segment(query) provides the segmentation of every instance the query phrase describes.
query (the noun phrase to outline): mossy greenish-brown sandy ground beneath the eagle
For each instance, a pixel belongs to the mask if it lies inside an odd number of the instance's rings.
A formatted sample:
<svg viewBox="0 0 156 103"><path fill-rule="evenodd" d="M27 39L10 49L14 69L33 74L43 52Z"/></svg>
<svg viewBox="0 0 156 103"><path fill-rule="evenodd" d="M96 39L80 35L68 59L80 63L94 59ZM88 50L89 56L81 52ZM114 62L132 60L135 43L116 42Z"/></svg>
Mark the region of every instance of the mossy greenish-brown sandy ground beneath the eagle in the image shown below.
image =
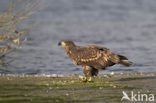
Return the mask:
<svg viewBox="0 0 156 103"><path fill-rule="evenodd" d="M122 91L156 96L156 74L101 74L91 83L80 77L1 75L0 103L129 103L121 101Z"/></svg>

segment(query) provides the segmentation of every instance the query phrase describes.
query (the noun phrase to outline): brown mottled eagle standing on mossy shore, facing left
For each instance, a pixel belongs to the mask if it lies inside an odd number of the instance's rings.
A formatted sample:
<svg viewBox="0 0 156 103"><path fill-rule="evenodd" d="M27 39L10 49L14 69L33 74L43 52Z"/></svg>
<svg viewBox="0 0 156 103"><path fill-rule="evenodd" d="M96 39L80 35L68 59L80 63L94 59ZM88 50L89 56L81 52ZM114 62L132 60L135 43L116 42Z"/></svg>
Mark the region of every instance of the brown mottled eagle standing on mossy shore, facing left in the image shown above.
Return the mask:
<svg viewBox="0 0 156 103"><path fill-rule="evenodd" d="M132 62L125 56L115 54L109 49L96 45L77 46L73 41L63 40L58 43L63 46L65 52L75 65L83 68L84 82L91 82L93 76L97 76L99 70L115 64L130 66Z"/></svg>

